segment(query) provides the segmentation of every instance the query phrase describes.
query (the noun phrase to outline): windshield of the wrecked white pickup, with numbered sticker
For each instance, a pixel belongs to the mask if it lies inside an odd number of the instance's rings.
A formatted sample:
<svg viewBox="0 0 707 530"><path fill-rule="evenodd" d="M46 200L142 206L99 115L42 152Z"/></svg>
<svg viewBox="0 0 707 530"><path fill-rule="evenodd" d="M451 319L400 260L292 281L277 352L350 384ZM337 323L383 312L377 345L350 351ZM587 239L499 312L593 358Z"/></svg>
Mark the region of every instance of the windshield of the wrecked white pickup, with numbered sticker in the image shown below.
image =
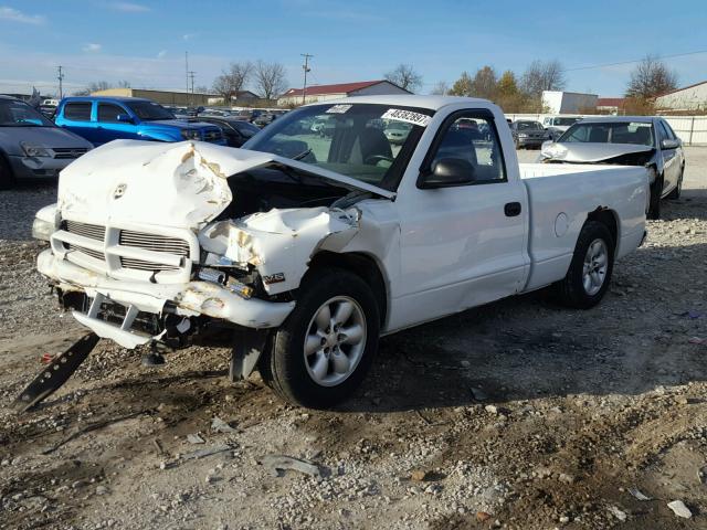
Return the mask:
<svg viewBox="0 0 707 530"><path fill-rule="evenodd" d="M243 148L272 152L394 190L424 127L434 113L389 105L313 105L276 119ZM384 130L408 124L404 141Z"/></svg>

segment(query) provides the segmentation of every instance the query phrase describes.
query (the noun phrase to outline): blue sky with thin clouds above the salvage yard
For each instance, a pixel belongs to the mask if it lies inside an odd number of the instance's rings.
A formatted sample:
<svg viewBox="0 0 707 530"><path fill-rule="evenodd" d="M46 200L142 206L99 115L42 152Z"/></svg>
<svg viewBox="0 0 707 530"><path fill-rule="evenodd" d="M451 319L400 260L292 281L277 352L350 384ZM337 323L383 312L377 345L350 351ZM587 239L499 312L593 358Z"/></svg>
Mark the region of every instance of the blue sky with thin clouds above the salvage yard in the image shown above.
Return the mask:
<svg viewBox="0 0 707 530"><path fill-rule="evenodd" d="M0 92L56 92L59 65L68 92L98 81L184 89L188 52L196 86L261 59L300 87L309 53L308 84L379 80L407 63L429 93L464 71L520 74L538 59L560 61L566 89L611 97L635 67L613 63L646 54L665 57L680 86L707 81L705 36L705 0L0 0Z"/></svg>

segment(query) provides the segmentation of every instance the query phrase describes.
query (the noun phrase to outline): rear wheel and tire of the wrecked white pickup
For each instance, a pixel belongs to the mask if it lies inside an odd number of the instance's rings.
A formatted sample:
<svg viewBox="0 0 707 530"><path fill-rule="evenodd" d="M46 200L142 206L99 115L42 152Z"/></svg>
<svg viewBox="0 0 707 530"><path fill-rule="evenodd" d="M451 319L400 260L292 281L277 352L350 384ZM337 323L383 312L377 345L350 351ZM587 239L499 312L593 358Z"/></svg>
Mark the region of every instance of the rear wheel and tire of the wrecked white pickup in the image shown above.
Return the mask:
<svg viewBox="0 0 707 530"><path fill-rule="evenodd" d="M597 221L584 223L570 268L556 284L561 304L578 309L589 309L603 298L614 267L615 242L605 224Z"/></svg>

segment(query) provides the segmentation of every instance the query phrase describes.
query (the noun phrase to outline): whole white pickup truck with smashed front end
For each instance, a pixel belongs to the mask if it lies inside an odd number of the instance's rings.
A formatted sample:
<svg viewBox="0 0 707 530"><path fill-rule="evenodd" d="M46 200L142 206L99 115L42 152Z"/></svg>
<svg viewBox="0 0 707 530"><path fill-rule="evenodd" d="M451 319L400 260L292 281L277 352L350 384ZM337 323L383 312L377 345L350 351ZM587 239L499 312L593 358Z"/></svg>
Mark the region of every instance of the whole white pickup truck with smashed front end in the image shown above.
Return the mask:
<svg viewBox="0 0 707 530"><path fill-rule="evenodd" d="M401 146L391 121L411 125ZM98 337L230 326L233 378L257 367L329 407L381 335L550 285L594 306L645 236L647 191L644 168L519 166L489 102L370 96L288 113L244 149L107 144L62 172L33 233L39 272Z"/></svg>

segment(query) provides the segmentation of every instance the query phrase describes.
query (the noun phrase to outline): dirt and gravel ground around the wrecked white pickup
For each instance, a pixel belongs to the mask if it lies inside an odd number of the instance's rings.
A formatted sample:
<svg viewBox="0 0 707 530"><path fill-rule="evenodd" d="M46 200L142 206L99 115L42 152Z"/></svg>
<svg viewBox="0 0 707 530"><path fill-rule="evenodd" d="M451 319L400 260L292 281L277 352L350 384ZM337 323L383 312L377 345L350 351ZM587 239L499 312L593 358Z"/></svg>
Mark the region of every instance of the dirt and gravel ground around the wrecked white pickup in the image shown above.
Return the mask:
<svg viewBox="0 0 707 530"><path fill-rule="evenodd" d="M0 528L707 528L707 148L600 306L540 293L387 337L330 412L257 374L229 383L225 347L148 370L102 341L14 413L40 357L82 335L34 273L32 215L54 193L0 193Z"/></svg>

